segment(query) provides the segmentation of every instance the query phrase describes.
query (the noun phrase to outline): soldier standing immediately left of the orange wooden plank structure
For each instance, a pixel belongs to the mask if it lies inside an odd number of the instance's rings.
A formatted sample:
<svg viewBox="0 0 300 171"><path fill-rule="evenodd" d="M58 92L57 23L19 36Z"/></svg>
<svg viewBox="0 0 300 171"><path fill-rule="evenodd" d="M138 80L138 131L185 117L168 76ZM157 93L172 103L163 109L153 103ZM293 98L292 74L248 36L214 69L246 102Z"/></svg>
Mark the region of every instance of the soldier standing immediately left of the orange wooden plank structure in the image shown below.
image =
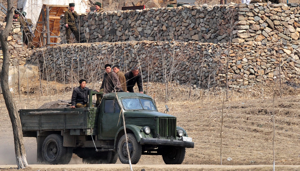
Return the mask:
<svg viewBox="0 0 300 171"><path fill-rule="evenodd" d="M21 27L23 28L23 42L28 44L28 48L34 48L35 46L32 44L32 30L29 30L29 27L32 26L32 20L29 18L27 19L26 14L27 13L25 11L22 12L20 21Z"/></svg>

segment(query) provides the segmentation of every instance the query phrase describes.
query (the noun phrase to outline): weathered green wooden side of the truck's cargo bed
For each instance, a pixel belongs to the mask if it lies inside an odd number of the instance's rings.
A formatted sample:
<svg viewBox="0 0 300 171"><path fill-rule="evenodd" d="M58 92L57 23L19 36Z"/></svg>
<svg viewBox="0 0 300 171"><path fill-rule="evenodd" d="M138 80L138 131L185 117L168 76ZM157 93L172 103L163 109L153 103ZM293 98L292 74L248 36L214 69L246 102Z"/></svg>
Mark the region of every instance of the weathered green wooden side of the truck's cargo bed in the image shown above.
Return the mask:
<svg viewBox="0 0 300 171"><path fill-rule="evenodd" d="M79 132L82 130L97 129L99 112L96 110L97 108L94 107L75 109L20 109L19 115L23 132L38 130L72 130Z"/></svg>

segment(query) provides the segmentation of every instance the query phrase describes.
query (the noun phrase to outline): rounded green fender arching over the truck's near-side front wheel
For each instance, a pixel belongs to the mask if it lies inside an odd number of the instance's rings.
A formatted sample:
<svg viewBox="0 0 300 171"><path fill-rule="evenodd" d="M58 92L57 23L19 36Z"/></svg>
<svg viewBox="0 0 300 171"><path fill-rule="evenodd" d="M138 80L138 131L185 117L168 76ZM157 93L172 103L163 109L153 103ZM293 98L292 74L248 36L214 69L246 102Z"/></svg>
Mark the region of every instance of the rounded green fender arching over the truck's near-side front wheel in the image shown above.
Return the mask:
<svg viewBox="0 0 300 171"><path fill-rule="evenodd" d="M135 138L138 142L141 141L141 138L153 138L151 134L147 135L145 134L144 131L142 131L142 126L137 126L137 125L126 125L126 133L133 133L135 135ZM128 130L130 130L128 132ZM124 127L122 126L121 128L118 129L117 134L115 136L115 148L118 143L118 139L124 135Z"/></svg>

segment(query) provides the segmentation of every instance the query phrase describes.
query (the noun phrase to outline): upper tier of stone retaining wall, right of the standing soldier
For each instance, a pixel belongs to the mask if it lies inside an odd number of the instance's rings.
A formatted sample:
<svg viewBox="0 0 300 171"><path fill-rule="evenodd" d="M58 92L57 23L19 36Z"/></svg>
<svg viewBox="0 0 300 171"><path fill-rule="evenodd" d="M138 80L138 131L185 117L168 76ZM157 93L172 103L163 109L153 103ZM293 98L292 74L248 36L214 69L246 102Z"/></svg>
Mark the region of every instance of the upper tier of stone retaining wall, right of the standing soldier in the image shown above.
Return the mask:
<svg viewBox="0 0 300 171"><path fill-rule="evenodd" d="M231 33L235 43L277 42L281 38L298 40L299 13L299 4L203 5L90 12L80 15L77 24L81 40L89 43L131 40L225 43ZM62 17L60 31L64 37L63 21Z"/></svg>

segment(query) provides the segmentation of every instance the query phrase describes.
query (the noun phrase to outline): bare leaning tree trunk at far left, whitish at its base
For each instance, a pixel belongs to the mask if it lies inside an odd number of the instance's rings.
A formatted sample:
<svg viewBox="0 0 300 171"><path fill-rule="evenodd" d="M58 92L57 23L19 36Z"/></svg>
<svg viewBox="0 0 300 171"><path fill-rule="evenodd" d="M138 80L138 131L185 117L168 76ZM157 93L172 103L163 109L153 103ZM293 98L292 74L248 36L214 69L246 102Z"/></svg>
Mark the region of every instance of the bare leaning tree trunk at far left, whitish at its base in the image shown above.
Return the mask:
<svg viewBox="0 0 300 171"><path fill-rule="evenodd" d="M18 116L18 111L15 106L12 94L9 91L8 87L8 67L9 67L9 53L8 53L8 43L7 37L12 29L12 0L7 0L7 23L4 30L0 31L0 43L2 45L3 52L3 65L1 69L1 88L3 93L3 98L5 101L6 108L8 110L8 115L12 122L12 130L14 134L15 141L15 156L18 169L23 169L28 166L26 160L25 147L23 142L23 133L20 117Z"/></svg>

